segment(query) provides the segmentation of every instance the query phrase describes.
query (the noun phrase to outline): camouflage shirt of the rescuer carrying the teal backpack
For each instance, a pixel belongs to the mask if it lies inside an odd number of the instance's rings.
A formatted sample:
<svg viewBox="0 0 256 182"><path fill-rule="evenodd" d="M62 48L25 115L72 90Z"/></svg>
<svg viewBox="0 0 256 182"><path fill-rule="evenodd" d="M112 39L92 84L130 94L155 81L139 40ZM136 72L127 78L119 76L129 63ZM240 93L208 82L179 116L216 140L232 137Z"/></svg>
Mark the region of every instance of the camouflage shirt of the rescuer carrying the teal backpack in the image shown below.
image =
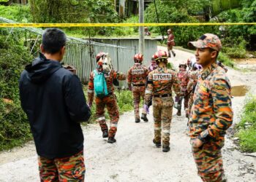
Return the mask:
<svg viewBox="0 0 256 182"><path fill-rule="evenodd" d="M119 79L119 80L125 80L126 79L126 75L122 74L118 71L114 71L111 70L110 73L106 73L105 75L105 79L107 82L107 87L108 87L108 92L114 92L114 87L113 87L113 80L114 79ZM89 83L88 83L88 100L89 103L92 103L94 99L94 71L91 72L90 74L90 79L89 79Z"/></svg>

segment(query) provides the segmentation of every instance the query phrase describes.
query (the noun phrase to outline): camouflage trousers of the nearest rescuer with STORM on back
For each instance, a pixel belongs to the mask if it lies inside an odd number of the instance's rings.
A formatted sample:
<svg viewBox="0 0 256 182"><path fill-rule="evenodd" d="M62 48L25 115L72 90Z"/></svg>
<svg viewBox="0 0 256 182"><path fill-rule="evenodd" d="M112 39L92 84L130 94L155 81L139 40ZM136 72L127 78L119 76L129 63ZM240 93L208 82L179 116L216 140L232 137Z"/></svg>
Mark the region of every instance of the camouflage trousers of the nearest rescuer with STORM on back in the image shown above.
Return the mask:
<svg viewBox="0 0 256 182"><path fill-rule="evenodd" d="M170 122L173 116L173 98L153 98L154 141L161 141L163 146L170 145Z"/></svg>

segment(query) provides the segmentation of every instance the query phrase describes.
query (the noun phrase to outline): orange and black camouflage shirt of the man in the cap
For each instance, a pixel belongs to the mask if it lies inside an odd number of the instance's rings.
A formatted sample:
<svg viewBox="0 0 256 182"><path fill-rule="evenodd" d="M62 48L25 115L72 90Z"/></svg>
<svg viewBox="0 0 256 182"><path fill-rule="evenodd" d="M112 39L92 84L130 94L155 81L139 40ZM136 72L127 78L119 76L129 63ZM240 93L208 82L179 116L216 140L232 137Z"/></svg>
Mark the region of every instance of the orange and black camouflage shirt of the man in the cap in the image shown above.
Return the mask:
<svg viewBox="0 0 256 182"><path fill-rule="evenodd" d="M230 81L217 63L200 71L189 119L191 138L200 135L214 141L224 140L233 122L230 91Z"/></svg>

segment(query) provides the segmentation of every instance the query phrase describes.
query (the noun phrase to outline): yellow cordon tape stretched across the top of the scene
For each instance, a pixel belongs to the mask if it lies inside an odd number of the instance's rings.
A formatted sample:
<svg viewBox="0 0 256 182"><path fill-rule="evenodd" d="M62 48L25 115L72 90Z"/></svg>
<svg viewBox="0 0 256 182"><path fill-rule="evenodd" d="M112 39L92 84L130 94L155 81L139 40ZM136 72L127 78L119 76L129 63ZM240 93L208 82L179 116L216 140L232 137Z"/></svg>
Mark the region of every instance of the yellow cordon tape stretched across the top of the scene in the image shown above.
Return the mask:
<svg viewBox="0 0 256 182"><path fill-rule="evenodd" d="M106 27L106 26L198 26L256 25L256 23L0 23L0 27Z"/></svg>

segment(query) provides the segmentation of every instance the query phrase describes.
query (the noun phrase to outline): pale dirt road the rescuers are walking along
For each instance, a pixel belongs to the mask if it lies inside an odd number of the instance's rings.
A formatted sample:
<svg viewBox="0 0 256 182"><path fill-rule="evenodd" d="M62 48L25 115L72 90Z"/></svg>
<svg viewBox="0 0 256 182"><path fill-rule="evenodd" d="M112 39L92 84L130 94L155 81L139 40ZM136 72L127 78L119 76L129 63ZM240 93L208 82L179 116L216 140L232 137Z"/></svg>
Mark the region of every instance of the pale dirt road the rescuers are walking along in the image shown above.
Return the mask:
<svg viewBox="0 0 256 182"><path fill-rule="evenodd" d="M160 48L160 47L159 47ZM176 50L175 66L187 60L191 54ZM255 92L256 73L242 73L229 69L228 76L233 85L246 84ZM234 123L239 121L245 97L233 98ZM133 112L120 117L117 143L103 140L97 124L83 128L85 135L86 181L190 181L197 182L195 162L192 158L189 138L186 135L187 119L176 116L170 134L170 152L163 153L152 143L153 116L149 122L134 122ZM228 137L223 152L226 175L229 181L255 181L256 158L236 150ZM0 154L0 181L39 181L37 154L34 144Z"/></svg>

